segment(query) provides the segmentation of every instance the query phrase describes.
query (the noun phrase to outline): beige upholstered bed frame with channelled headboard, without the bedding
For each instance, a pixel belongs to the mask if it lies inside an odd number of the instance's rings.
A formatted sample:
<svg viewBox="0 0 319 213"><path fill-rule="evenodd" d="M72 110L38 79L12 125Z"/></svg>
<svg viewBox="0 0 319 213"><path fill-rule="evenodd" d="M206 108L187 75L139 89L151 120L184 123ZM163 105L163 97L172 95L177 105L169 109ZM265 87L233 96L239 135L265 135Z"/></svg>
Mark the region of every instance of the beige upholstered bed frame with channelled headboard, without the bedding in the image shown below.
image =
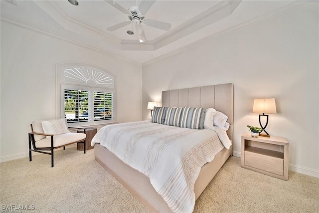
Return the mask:
<svg viewBox="0 0 319 213"><path fill-rule="evenodd" d="M233 85L219 84L162 92L162 106L214 108L228 116L227 135L232 140L233 133ZM142 123L141 125L149 125ZM181 129L181 128L179 128ZM94 141L92 140L92 143ZM95 159L137 199L152 212L172 212L162 196L151 184L150 178L121 161L115 154L99 143L94 144ZM232 155L232 146L222 148L209 163L204 164L193 185L194 199L200 196L219 169ZM153 183L154 184L154 183ZM175 212L175 211L174 211ZM180 212L180 209L179 211Z"/></svg>

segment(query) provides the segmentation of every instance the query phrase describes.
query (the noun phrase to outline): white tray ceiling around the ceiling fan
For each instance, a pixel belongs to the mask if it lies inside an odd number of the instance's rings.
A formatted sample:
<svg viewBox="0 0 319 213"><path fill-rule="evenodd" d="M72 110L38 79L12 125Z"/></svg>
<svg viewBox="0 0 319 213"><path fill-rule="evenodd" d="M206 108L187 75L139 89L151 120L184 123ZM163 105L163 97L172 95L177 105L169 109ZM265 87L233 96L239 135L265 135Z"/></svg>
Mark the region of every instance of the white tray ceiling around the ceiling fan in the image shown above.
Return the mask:
<svg viewBox="0 0 319 213"><path fill-rule="evenodd" d="M5 0L1 19L36 27L144 63L207 36L254 20L272 11L281 11L293 1L270 0L156 0L145 15L171 24L169 31L143 24L147 41L137 33L129 35L132 24L114 31L107 27L129 20L104 0ZM141 0L117 0L125 8Z"/></svg>

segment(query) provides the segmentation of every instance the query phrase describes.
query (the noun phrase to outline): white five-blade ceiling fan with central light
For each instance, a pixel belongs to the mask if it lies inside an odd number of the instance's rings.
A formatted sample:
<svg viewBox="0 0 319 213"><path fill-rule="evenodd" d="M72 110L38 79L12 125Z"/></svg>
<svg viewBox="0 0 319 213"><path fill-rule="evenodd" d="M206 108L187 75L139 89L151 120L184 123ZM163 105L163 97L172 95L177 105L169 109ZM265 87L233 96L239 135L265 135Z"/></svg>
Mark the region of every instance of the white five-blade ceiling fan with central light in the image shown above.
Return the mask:
<svg viewBox="0 0 319 213"><path fill-rule="evenodd" d="M115 24L106 28L109 31L117 30L123 26L129 25L133 23L135 25L135 29L138 33L140 42L146 41L146 36L144 33L144 29L142 23L146 24L147 26L152 26L158 29L163 29L168 31L171 27L170 23L153 20L150 18L146 18L144 14L151 8L156 0L142 0L139 6L131 6L129 9L124 8L121 4L116 2L115 0L105 0L121 12L128 15L130 20L122 21L121 23Z"/></svg>

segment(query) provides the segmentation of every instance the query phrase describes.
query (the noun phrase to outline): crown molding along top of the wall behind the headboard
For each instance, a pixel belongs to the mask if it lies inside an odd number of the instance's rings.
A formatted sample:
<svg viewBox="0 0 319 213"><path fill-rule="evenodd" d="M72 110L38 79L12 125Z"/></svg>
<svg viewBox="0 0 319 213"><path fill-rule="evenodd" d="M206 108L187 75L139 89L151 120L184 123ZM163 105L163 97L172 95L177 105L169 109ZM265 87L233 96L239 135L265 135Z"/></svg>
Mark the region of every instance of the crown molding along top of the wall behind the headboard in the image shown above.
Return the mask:
<svg viewBox="0 0 319 213"><path fill-rule="evenodd" d="M237 25L232 26L230 28L227 28L225 30L219 31L217 33L214 33L212 35L208 35L207 37L204 37L204 38L202 38L200 40L194 41L194 42L189 43L189 44L187 44L185 46L182 46L180 48L177 48L177 49L174 49L174 50L172 50L170 52L162 54L162 55L160 55L158 57L155 57L155 58L153 58L151 60L145 61L142 64L143 64L143 66L152 64L152 63L157 62L159 60L162 60L164 58L176 55L179 52L187 51L188 49L191 49L194 46L197 46L197 45L199 45L201 43L204 43L204 42L210 41L212 39L216 39L216 38L225 36L228 33L234 32L236 30L240 30L240 29L245 28L245 27L249 27L249 26L254 25L256 23L263 22L263 21L268 20L270 18L273 18L275 16L281 15L281 14L286 13L289 10L291 10L291 9L297 7L297 6L301 6L301 5L309 3L309 2L314 2L314 1L313 0L312 1L305 1L305 0L293 1L291 3L288 3L288 4L284 5L284 6L281 6L281 7L277 8L277 9L275 9L275 10L272 10L272 11L266 12L264 14L258 15L257 17L251 18L250 20L247 20L247 21L245 21L243 23L237 24Z"/></svg>

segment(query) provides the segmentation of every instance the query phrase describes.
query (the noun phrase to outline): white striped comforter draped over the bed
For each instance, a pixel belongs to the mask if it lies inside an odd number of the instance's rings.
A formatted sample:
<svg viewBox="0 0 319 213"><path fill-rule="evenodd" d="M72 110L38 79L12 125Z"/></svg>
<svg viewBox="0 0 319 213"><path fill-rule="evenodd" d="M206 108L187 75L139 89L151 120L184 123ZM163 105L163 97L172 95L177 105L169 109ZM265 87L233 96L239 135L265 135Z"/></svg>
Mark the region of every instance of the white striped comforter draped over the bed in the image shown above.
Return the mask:
<svg viewBox="0 0 319 213"><path fill-rule="evenodd" d="M210 129L193 130L142 121L105 126L91 145L100 143L149 177L173 212L192 212L194 183L200 169L224 148L218 135ZM222 141L229 149L227 139Z"/></svg>

